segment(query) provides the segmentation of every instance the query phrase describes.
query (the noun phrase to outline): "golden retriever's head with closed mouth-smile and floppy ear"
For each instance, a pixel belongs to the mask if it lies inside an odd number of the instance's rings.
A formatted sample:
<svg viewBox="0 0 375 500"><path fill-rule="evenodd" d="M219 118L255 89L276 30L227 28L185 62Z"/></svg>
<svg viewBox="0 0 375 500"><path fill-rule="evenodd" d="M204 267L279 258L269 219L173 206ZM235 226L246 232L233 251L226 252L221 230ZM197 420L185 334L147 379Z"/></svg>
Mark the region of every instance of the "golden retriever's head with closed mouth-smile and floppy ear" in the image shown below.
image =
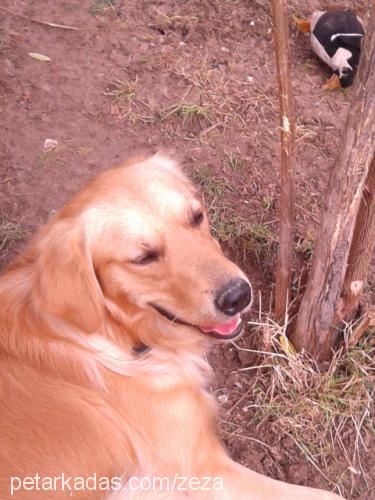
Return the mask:
<svg viewBox="0 0 375 500"><path fill-rule="evenodd" d="M86 332L100 328L110 301L228 339L251 302L201 195L160 156L97 177L47 226L37 252L41 306Z"/></svg>

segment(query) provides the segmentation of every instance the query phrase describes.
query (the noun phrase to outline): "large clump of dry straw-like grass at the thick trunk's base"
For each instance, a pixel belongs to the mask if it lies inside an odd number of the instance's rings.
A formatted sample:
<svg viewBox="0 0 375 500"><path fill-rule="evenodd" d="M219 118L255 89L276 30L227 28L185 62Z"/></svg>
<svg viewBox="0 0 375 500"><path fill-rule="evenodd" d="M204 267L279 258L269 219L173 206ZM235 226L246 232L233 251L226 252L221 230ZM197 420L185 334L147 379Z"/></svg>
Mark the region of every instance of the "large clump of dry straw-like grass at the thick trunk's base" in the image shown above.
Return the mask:
<svg viewBox="0 0 375 500"><path fill-rule="evenodd" d="M353 348L346 342L322 371L295 352L272 320L250 325L262 339L262 350L250 350L261 358L262 369L249 368L256 375L240 405L248 416L243 437L255 434L269 442L272 435L271 444L287 438L294 454L302 453L332 489L349 498L362 494L367 478L361 456L375 437L375 339L368 335Z"/></svg>

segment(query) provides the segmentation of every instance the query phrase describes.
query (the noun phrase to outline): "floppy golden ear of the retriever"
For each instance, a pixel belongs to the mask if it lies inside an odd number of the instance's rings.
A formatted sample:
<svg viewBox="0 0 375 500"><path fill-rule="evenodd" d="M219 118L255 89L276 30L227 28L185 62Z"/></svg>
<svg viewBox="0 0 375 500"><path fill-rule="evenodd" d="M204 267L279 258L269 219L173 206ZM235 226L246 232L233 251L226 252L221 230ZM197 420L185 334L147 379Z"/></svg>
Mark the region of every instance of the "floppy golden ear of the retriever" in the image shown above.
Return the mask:
<svg viewBox="0 0 375 500"><path fill-rule="evenodd" d="M72 220L56 221L37 242L34 297L38 307L87 333L103 318L103 296L84 231Z"/></svg>

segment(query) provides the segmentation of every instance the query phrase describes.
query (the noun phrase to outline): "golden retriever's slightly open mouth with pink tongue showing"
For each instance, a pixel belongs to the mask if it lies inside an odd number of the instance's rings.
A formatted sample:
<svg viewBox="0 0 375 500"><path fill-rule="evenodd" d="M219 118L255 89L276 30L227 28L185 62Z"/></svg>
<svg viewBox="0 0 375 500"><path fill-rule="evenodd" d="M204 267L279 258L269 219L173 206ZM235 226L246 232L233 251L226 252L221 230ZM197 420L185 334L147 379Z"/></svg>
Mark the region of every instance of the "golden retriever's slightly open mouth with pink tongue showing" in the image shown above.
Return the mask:
<svg viewBox="0 0 375 500"><path fill-rule="evenodd" d="M150 304L159 314L172 323L193 327L201 333L220 340L230 340L242 333L243 321L240 314L236 314L230 321L224 323L213 323L211 325L194 325L178 318L156 304Z"/></svg>

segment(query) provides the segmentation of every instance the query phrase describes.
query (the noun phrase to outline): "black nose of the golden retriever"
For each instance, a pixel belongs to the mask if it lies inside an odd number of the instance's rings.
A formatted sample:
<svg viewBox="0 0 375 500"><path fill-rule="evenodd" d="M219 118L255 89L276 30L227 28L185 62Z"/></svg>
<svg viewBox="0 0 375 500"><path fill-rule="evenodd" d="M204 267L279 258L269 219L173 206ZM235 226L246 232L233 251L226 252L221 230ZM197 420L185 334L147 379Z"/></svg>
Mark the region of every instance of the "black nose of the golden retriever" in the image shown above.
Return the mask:
<svg viewBox="0 0 375 500"><path fill-rule="evenodd" d="M238 278L230 281L216 294L215 305L219 311L227 316L234 316L242 311L251 300L251 288L249 284Z"/></svg>

